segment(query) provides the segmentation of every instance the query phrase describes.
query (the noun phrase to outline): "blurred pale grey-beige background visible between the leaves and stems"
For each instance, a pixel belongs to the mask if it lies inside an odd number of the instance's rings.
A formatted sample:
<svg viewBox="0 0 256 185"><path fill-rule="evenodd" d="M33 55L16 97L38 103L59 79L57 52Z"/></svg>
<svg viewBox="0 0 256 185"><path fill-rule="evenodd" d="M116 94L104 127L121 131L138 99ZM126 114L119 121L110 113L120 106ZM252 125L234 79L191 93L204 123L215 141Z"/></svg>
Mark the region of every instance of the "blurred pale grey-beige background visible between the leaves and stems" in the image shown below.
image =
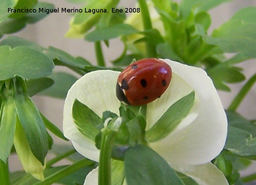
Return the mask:
<svg viewBox="0 0 256 185"><path fill-rule="evenodd" d="M39 0L40 1L40 0ZM43 0L45 2L50 2L55 5L55 7L61 8L80 8L81 4L71 4L65 0ZM179 2L178 0L176 0ZM121 0L119 4L119 8L134 8L135 0ZM228 3L221 4L219 7L216 7L210 10L210 14L212 17L212 25L209 29L210 34L213 29L218 28L221 24L226 22L232 15L239 9L247 6L256 6L256 0L233 0ZM97 8L97 7L95 7ZM129 16L129 14L127 14ZM36 42L37 44L48 47L53 46L55 48L59 48L70 55L82 56L88 61L96 64L96 57L94 52L93 42L86 42L82 38L81 39L69 39L65 38L64 35L69 29L69 21L71 18L71 14L69 13L52 13L47 16L45 19L40 21L35 25L28 25L21 32L15 34L18 37L22 37L29 41ZM8 37L5 36L5 37ZM113 61L116 59L123 50L123 44L118 39L110 40L110 47L103 47L104 57L106 61ZM256 52L256 48L255 48ZM111 65L109 62L107 65ZM250 60L241 63L238 65L244 69L244 74L246 78L250 78L256 71L256 61ZM57 66L55 71L69 71L65 67ZM71 74L71 71L69 71ZM76 75L76 74L74 74ZM76 75L77 76L77 75ZM78 77L78 76L77 76ZM237 83L229 85L232 89L231 93L227 93L224 91L219 91L220 99L223 103L224 108L227 108L228 105L233 100L234 96L238 93L240 88L243 86L243 83ZM38 107L39 111L41 111L50 121L55 123L62 130L62 118L63 118L63 105L64 100L55 99L51 97L44 96L34 96L33 101ZM249 91L246 98L244 98L242 104L238 108L238 112L245 116L247 119L256 119L256 85ZM55 143L58 144L70 144L71 142L64 142L63 140L52 136L54 138ZM52 156L49 155L48 159ZM16 158L16 156L10 156L9 158L10 171L16 171L22 169L20 161ZM65 161L64 161L65 162ZM62 161L63 164L63 161ZM58 165L58 163L57 163ZM251 173L256 172L256 165L253 164L246 171L242 172L242 175L249 175Z"/></svg>

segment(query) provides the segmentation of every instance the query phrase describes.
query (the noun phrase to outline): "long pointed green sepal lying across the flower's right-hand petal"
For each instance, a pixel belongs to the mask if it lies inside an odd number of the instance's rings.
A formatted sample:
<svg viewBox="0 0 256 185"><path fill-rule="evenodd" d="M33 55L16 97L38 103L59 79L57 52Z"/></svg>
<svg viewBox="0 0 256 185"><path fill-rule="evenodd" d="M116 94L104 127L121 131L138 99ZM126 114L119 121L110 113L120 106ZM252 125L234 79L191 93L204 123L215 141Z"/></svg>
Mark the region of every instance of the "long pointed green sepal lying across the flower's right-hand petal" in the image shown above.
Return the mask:
<svg viewBox="0 0 256 185"><path fill-rule="evenodd" d="M166 137L185 118L194 105L195 92L179 99L161 116L161 118L146 131L146 140L154 142Z"/></svg>

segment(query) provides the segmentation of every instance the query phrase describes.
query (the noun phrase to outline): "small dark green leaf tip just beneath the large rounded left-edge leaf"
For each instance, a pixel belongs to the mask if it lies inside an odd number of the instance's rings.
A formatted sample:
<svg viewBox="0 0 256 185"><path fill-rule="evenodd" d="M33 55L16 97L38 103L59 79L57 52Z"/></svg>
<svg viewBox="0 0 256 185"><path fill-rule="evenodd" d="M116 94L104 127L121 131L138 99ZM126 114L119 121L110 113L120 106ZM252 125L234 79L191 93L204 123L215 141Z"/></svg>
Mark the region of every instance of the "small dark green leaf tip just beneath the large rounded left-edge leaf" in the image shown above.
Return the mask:
<svg viewBox="0 0 256 185"><path fill-rule="evenodd" d="M37 93L51 87L54 81L50 78L38 78L38 79L30 79L27 81L27 92L28 95L34 96Z"/></svg>

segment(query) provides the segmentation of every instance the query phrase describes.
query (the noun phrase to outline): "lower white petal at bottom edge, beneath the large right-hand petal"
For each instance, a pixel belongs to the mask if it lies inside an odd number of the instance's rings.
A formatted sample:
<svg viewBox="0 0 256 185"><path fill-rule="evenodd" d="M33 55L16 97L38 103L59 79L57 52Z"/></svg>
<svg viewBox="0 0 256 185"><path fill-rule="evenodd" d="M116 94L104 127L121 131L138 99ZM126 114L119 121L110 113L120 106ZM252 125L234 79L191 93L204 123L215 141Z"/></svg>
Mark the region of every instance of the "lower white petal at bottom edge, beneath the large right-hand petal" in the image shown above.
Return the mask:
<svg viewBox="0 0 256 185"><path fill-rule="evenodd" d="M180 165L173 168L193 178L199 185L228 185L223 173L211 162L201 165Z"/></svg>

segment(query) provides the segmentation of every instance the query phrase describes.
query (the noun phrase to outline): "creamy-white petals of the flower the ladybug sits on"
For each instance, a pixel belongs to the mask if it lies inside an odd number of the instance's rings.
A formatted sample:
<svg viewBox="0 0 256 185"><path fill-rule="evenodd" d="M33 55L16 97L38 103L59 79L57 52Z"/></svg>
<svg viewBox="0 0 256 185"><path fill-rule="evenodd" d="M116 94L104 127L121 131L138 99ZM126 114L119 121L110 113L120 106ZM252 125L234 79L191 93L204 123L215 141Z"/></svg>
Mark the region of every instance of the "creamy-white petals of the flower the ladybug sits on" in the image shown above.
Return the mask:
<svg viewBox="0 0 256 185"><path fill-rule="evenodd" d="M195 104L189 114L165 138L149 146L173 169L193 178L198 184L228 184L223 173L210 161L223 149L227 119L216 89L207 74L199 68L164 60L172 67L173 78L161 98L147 106L146 130L152 127L177 100L195 91ZM75 98L101 117L108 110L119 114L120 102L115 96L119 72L105 70L84 75L69 90L63 114L63 131L76 150L86 158L99 161L95 143L78 131L72 118ZM86 177L85 184L97 182L97 168ZM92 180L92 181L91 181ZM96 183L95 183L96 184Z"/></svg>

